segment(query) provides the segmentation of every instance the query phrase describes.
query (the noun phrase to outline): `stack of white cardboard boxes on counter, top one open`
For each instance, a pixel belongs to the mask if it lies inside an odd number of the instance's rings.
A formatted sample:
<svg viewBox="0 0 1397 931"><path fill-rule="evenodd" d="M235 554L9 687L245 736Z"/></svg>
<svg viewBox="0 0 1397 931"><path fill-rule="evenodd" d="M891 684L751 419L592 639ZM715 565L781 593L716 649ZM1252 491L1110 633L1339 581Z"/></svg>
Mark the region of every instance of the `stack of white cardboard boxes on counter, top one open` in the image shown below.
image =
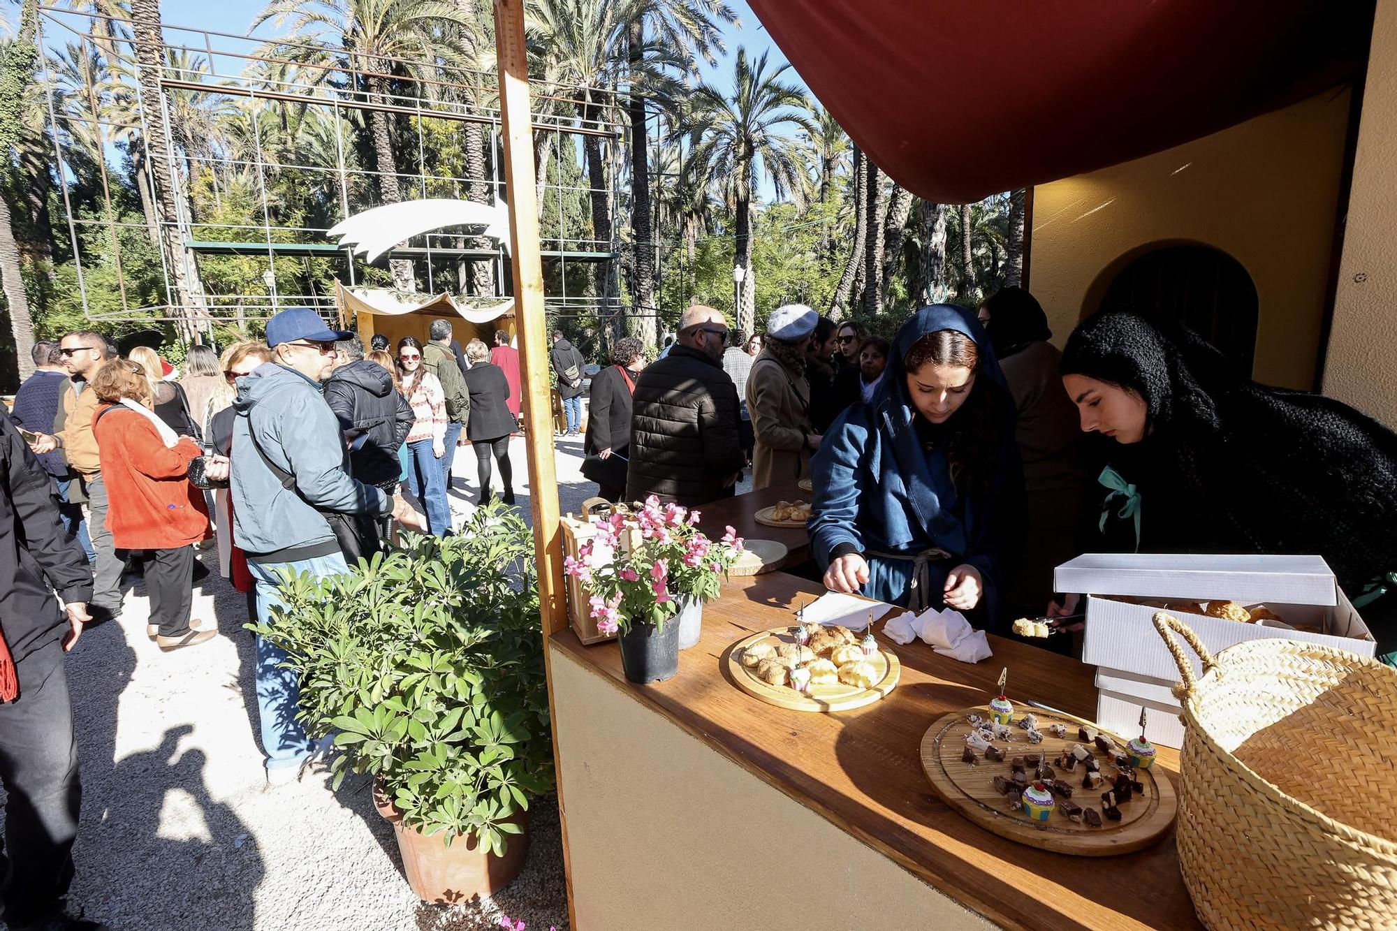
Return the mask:
<svg viewBox="0 0 1397 931"><path fill-rule="evenodd" d="M1263 637L1309 640L1369 657L1376 646L1319 556L1085 554L1058 566L1053 587L1084 593L1081 660L1098 667L1097 723L1134 737L1143 706L1150 720L1147 737L1162 746L1183 745L1183 724L1172 692L1179 670L1154 629L1160 609L1154 604L1161 600L1264 604L1288 623L1322 630L1241 623L1171 608L1169 614L1187 623L1213 653ZM1187 646L1185 653L1201 675L1199 658Z"/></svg>

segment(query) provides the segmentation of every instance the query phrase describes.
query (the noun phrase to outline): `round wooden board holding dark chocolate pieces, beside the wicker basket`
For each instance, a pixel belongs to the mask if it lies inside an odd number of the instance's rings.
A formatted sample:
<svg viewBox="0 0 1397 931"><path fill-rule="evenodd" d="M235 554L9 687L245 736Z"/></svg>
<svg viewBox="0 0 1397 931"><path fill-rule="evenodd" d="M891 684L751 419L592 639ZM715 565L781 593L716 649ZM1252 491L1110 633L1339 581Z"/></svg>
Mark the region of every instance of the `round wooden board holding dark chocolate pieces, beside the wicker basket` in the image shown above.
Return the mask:
<svg viewBox="0 0 1397 931"><path fill-rule="evenodd" d="M1018 727L1018 719L1031 713L1038 719L1042 731L1042 744L1030 744L1027 731ZM1115 854L1141 850L1158 842L1169 832L1173 816L1179 811L1179 800L1175 795L1173 784L1165 777L1155 777L1150 769L1137 769L1136 779L1144 786L1144 798L1132 794L1130 801L1122 802L1120 821L1108 821L1102 816L1101 828L1088 828L1085 821L1069 821L1056 808L1046 822L1028 821L1023 811L1009 811L1007 795L995 791L995 776L1010 776L1010 760L1014 756L1042 752L1052 762L1073 744L1081 744L1077 728L1085 724L1095 731L1106 734L1091 721L1083 721L1067 714L1045 712L1037 707L1014 707L1013 739L1007 744L996 741L995 745L1004 751L1004 762L996 763L985 759L985 753L977 751L979 765L972 766L961 762L965 749L965 737L971 731L967 716L979 714L989 717L988 707L967 707L953 712L936 720L922 738L922 769L930 780L936 794L946 800L951 808L965 818L970 818L981 828L992 830L1002 837L1017 840L1030 847L1052 850L1055 853L1073 854L1077 857L1111 857ZM1067 726L1066 739L1056 738L1048 730L1051 724L1062 723ZM1125 741L1115 734L1106 734L1115 739L1116 746L1125 748ZM1101 788L1083 788L1081 779L1085 770L1083 766L1065 774L1073 788L1071 801L1083 808L1102 809L1101 793L1111 787L1111 780L1116 774L1115 765L1095 746L1087 746L1101 763L1101 774L1105 777ZM1030 770L1030 777L1032 772ZM1062 802L1060 798L1053 798Z"/></svg>

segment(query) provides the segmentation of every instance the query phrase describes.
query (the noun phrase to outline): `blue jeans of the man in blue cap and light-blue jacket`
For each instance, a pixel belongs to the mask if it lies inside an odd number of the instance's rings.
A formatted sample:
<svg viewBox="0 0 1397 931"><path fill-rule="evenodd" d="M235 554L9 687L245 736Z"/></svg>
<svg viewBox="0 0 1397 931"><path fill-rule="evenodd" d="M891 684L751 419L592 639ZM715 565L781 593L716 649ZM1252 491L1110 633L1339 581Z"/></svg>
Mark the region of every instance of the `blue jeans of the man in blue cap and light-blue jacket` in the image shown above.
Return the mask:
<svg viewBox="0 0 1397 931"><path fill-rule="evenodd" d="M278 570L309 572L317 579L345 573L349 568L339 554L300 559L298 562L253 562L247 561L247 572L257 580L257 621L267 623L274 607L285 607L277 586ZM257 717L261 721L263 751L267 753L268 770L300 766L314 749L314 741L306 737L306 728L296 720L300 710L300 685L296 672L282 668L286 651L257 637Z"/></svg>

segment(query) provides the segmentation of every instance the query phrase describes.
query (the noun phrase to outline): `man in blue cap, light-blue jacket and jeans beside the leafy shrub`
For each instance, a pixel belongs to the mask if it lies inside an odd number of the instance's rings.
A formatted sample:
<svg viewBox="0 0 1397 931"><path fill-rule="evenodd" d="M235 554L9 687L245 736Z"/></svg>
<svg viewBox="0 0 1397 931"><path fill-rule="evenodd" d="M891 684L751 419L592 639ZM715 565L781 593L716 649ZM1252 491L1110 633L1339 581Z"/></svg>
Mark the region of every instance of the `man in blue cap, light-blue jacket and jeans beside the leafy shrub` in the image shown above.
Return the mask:
<svg viewBox="0 0 1397 931"><path fill-rule="evenodd" d="M267 623L278 572L316 577L346 572L327 513L391 513L409 530L425 530L401 498L355 481L346 468L339 421L321 394L335 361L331 330L310 308L291 308L267 322L272 361L237 380L233 401L233 540L247 554L257 582L257 621ZM296 721L296 675L279 668L286 654L257 637L257 713L267 753L267 781L292 781L316 749Z"/></svg>

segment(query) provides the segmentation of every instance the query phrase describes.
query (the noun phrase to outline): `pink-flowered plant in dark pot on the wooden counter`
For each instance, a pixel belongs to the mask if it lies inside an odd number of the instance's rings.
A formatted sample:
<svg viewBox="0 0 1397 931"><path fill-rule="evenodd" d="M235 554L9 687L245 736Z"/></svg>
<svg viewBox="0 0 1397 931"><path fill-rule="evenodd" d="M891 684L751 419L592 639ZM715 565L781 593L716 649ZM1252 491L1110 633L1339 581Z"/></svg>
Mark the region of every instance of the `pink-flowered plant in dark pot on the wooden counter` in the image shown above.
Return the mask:
<svg viewBox="0 0 1397 931"><path fill-rule="evenodd" d="M588 593L597 629L619 632L626 678L662 682L679 670L679 650L698 642L703 602L718 596L742 538L728 527L714 542L698 530L698 512L654 495L591 523L595 535L563 570Z"/></svg>

